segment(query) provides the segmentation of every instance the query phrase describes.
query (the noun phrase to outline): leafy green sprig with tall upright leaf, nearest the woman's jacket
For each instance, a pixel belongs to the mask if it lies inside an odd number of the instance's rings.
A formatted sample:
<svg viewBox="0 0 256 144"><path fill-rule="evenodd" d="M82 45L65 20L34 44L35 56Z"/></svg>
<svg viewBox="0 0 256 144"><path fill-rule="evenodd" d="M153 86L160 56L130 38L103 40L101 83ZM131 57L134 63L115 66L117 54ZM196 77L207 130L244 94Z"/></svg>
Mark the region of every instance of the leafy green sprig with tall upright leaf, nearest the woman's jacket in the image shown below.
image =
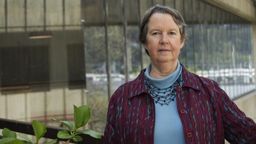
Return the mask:
<svg viewBox="0 0 256 144"><path fill-rule="evenodd" d="M83 130L78 131L78 129L82 126L85 126L90 119L90 108L88 106L76 107L74 105L74 123L68 121L61 121L55 118L52 118L52 121L60 122L65 125L69 131L61 130L58 132L57 137L60 139L68 139L66 143L69 143L70 140L75 142L82 141L82 137L79 134L89 134L91 137L100 139L102 134L92 131L92 130Z"/></svg>

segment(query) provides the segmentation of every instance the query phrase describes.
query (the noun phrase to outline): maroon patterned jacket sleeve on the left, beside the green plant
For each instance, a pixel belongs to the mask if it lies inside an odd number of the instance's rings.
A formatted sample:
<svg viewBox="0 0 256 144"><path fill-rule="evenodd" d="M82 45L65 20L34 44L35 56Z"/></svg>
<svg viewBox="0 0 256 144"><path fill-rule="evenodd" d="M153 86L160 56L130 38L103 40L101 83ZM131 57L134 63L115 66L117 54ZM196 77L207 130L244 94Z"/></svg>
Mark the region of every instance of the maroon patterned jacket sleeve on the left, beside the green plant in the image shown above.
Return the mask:
<svg viewBox="0 0 256 144"><path fill-rule="evenodd" d="M112 95L108 104L107 124L104 131L103 143L118 143L118 133L116 131L116 99L119 96L119 89Z"/></svg>

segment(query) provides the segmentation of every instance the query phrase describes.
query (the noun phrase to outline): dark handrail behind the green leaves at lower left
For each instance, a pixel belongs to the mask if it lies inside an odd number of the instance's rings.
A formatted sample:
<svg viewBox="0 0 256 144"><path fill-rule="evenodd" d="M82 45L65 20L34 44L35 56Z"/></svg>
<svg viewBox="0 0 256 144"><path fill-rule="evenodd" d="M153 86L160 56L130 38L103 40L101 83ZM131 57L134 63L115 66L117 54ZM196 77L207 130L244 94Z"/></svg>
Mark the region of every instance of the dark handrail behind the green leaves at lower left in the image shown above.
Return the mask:
<svg viewBox="0 0 256 144"><path fill-rule="evenodd" d="M30 135L34 135L34 131L33 131L33 127L31 123L28 122L20 122L20 121L15 121L15 120L11 120L11 119L4 119L4 118L0 118L0 129L10 129L12 131L15 132L19 132L19 133L25 133L25 134L30 134ZM46 126L46 133L44 134L44 138L48 138L48 139L57 139L57 133L60 130L67 130L65 128L62 127L55 127L55 126ZM102 143L103 139L96 139L91 137L90 135L80 135L83 138L83 141L79 141L79 142L75 142L75 143ZM58 139L59 140L59 139ZM65 139L63 139L63 141L66 141Z"/></svg>

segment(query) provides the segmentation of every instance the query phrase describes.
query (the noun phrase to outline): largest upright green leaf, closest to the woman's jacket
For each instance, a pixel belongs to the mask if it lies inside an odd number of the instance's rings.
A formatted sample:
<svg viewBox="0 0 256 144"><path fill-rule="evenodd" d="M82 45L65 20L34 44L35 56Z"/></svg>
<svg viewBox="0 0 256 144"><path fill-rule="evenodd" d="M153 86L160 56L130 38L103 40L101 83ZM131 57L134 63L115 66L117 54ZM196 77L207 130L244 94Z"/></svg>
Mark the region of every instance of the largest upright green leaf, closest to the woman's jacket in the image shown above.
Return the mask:
<svg viewBox="0 0 256 144"><path fill-rule="evenodd" d="M88 106L76 107L74 105L75 128L84 126L90 119L90 108Z"/></svg>

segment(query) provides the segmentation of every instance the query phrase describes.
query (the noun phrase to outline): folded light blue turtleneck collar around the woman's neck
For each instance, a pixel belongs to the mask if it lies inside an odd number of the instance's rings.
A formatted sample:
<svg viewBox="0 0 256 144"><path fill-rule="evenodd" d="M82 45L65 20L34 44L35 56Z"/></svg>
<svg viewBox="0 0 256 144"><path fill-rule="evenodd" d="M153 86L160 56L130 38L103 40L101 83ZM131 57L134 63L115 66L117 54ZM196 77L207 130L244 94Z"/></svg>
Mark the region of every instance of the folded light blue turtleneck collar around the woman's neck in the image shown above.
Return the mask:
<svg viewBox="0 0 256 144"><path fill-rule="evenodd" d="M163 88L171 86L177 80L177 78L181 74L182 68L181 68L180 62L178 60L178 65L177 65L176 70L172 74L167 75L163 78L150 77L149 76L150 70L151 70L151 63L148 65L148 67L145 71L145 76L148 78L148 80L150 81L151 84L154 84L156 87L163 89Z"/></svg>

